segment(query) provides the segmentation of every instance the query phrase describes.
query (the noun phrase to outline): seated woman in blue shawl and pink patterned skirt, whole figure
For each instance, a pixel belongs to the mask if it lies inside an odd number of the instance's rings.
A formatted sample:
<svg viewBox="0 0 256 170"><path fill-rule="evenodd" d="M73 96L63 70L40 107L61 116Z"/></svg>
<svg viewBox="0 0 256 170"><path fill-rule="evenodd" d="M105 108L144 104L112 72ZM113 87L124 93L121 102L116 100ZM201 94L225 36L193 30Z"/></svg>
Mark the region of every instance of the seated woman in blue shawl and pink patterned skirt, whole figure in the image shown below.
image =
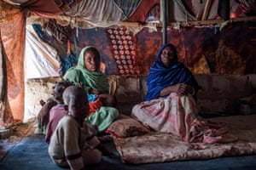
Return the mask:
<svg viewBox="0 0 256 170"><path fill-rule="evenodd" d="M225 142L221 135L227 132L226 128L198 116L198 83L189 69L177 61L177 49L172 44L160 48L147 81L148 94L145 101L132 108L133 118L154 131L175 134L185 142Z"/></svg>

